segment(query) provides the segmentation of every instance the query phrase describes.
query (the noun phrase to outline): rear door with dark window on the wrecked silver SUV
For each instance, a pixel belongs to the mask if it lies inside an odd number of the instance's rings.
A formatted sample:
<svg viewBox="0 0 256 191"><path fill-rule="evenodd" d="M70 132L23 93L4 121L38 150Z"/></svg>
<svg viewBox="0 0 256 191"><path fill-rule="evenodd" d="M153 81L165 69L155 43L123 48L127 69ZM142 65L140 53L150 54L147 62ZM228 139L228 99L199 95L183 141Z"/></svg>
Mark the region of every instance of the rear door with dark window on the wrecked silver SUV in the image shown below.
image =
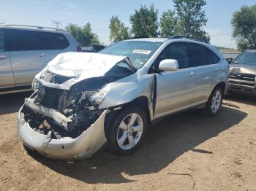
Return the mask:
<svg viewBox="0 0 256 191"><path fill-rule="evenodd" d="M216 63L219 62L219 58L208 47L195 43L188 44L195 69L195 93L192 105L203 104L208 100L217 77Z"/></svg>

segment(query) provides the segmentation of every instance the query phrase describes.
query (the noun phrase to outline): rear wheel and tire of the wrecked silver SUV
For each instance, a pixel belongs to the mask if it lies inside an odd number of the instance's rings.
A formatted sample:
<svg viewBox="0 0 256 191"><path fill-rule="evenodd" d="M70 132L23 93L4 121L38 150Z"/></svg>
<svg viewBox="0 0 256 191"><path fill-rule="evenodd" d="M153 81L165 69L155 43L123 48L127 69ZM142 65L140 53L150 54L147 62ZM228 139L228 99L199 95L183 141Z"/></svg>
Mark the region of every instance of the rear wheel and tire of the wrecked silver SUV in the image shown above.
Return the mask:
<svg viewBox="0 0 256 191"><path fill-rule="evenodd" d="M223 90L220 87L215 87L206 104L206 111L211 116L219 114L219 110L222 107Z"/></svg>

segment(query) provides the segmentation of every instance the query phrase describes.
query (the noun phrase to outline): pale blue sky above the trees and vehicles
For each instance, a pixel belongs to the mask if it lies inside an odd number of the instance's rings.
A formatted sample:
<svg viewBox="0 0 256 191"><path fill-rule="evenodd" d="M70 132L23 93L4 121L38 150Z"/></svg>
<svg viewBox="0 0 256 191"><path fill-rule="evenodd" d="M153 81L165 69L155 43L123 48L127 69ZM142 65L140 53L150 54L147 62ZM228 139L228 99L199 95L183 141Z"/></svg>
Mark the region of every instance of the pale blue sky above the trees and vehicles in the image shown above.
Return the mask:
<svg viewBox="0 0 256 191"><path fill-rule="evenodd" d="M233 12L243 5L252 6L256 1L206 0L206 3L203 9L208 22L204 29L211 36L211 44L236 48L230 24ZM129 16L144 4L148 7L154 4L159 16L163 11L173 9L172 0L0 0L0 23L52 27L52 20L57 20L64 28L69 23L83 26L90 22L99 41L110 44L110 17L117 15L130 27Z"/></svg>

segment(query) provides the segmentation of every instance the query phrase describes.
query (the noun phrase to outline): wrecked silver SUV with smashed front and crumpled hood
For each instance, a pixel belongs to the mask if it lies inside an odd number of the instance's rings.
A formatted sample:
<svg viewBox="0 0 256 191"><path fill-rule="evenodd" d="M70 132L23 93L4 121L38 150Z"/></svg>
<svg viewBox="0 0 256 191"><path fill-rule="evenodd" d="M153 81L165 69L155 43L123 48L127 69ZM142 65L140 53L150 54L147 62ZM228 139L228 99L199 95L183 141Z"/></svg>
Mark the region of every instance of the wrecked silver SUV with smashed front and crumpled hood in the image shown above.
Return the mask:
<svg viewBox="0 0 256 191"><path fill-rule="evenodd" d="M37 74L18 132L25 147L47 157L90 157L105 144L128 155L160 117L196 106L218 114L228 72L215 47L184 36L67 52Z"/></svg>

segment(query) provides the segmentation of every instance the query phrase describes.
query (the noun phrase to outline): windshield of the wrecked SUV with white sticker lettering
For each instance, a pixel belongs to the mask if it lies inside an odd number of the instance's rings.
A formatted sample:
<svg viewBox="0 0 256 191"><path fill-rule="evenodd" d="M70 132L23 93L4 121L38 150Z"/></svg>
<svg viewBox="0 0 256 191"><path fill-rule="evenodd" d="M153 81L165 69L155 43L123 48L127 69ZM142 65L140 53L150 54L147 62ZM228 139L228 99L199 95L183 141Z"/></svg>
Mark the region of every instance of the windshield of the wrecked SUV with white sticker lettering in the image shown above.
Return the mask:
<svg viewBox="0 0 256 191"><path fill-rule="evenodd" d="M100 53L127 56L133 66L135 66L136 69L140 69L161 44L162 42L122 41L110 47L106 47L104 50L100 51Z"/></svg>

